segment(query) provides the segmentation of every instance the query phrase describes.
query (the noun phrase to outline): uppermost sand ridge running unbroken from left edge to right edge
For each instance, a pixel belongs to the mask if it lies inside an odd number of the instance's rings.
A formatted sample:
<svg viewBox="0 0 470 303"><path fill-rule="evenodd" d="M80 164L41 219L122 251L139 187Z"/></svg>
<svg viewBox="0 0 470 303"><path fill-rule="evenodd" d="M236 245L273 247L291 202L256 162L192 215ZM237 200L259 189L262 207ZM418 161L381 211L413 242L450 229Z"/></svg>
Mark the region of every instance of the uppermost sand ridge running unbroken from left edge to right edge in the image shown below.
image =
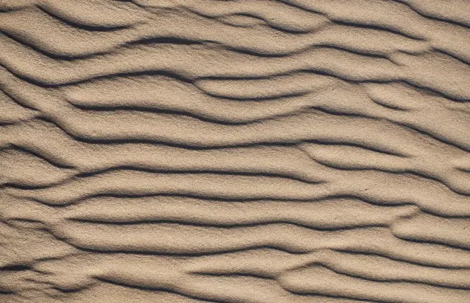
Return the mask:
<svg viewBox="0 0 470 303"><path fill-rule="evenodd" d="M269 77L296 71L319 71L351 81L401 80L433 89L449 98L470 99L468 81L465 77L470 66L438 52L424 53L420 56L395 53L391 62L382 57L370 57L324 47L312 48L289 57L272 58L234 53L231 50L220 50L215 46L156 44L135 45L120 53L73 62L57 62L6 36L0 37L0 40L2 66L19 77L48 86L84 82L108 75L154 71L173 73L187 79ZM16 55L12 56L13 53ZM34 60L35 64L26 68L21 64L26 58ZM212 63L210 66L207 65L207 59ZM254 64L263 68L254 68ZM438 71L441 77L438 79L431 77Z"/></svg>

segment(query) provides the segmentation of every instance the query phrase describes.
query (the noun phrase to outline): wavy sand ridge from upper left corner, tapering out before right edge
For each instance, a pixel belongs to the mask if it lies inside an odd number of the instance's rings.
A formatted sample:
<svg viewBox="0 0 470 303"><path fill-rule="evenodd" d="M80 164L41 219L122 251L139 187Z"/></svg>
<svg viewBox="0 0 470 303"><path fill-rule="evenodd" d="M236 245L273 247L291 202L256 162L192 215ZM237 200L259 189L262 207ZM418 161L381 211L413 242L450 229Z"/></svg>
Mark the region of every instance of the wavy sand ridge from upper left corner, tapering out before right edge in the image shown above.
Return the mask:
<svg viewBox="0 0 470 303"><path fill-rule="evenodd" d="M22 18L35 18L40 20L40 23L30 24L25 28L21 25ZM171 26L171 28L166 28L168 24L176 24L175 19L182 18L187 19L192 26L205 26L206 30L195 35L194 32L187 30L187 27ZM227 18L224 20L227 22ZM68 24L46 14L44 10L37 8L24 9L5 15L3 22L0 19L0 28L4 33L8 33L32 47L39 48L49 56L63 56L70 59L79 59L97 53L115 52L124 46L142 44L146 41L158 42L158 39L167 43L213 43L232 50L267 56L301 53L314 46L336 46L384 57L397 51L422 53L431 50L431 46L426 42L418 42L387 32L377 35L374 30L360 33L355 28L338 24L323 26L312 33L292 34L282 33L269 27L232 26L232 24L224 24L224 22L221 23L215 19L198 17L178 10L172 13L164 10L156 16L149 17L148 21L140 25L136 24L131 28L117 28L112 33L102 31L93 36L89 35L88 31L68 26ZM49 30L55 35L50 36L50 40L40 39L41 30ZM232 37L228 38L227 35L222 35L221 30ZM109 39L102 39L103 35L109 35ZM358 37L359 39L350 39L350 37ZM80 44L79 47L71 48L62 40L64 38L68 41L84 41L85 43ZM374 43L379 41L384 44ZM286 42L289 42L288 46L286 46Z"/></svg>

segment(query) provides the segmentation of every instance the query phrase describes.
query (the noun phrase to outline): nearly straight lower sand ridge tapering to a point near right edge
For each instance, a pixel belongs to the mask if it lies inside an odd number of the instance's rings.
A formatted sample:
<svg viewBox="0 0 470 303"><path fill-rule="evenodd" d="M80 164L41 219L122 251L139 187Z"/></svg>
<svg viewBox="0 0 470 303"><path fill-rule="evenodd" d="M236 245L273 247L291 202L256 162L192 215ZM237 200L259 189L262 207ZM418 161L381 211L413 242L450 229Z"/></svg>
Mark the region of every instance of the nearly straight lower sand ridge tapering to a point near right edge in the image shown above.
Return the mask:
<svg viewBox="0 0 470 303"><path fill-rule="evenodd" d="M412 205L380 207L357 199L325 199L311 202L286 201L206 201L176 196L140 198L98 197L77 205L50 208L34 201L5 196L3 220L37 221L46 224L67 221L88 223L178 222L208 226L249 226L267 223L292 223L319 230L361 226L392 226L412 217ZM129 210L127 205L134 205ZM19 212L18 206L21 205ZM288 212L283 210L290 205ZM348 207L348 208L346 208ZM223 213L216 210L223 209ZM256 214L263 209L263 214ZM41 215L38 216L37 212ZM361 217L361 214L367 214Z"/></svg>

